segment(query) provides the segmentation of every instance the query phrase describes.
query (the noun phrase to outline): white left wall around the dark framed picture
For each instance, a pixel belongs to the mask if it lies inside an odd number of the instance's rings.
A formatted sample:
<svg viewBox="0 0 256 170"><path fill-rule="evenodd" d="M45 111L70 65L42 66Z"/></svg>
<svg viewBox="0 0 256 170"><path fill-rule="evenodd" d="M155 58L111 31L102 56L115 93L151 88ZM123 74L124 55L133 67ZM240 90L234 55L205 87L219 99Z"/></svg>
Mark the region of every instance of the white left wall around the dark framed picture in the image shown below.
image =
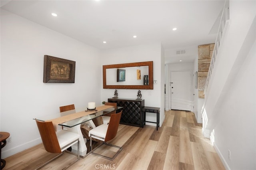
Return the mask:
<svg viewBox="0 0 256 170"><path fill-rule="evenodd" d="M44 55L76 61L75 83L43 83ZM93 47L1 9L0 130L12 136L2 158L41 142L33 118L58 113L62 105L74 103L80 111L90 101L101 104L99 56Z"/></svg>

